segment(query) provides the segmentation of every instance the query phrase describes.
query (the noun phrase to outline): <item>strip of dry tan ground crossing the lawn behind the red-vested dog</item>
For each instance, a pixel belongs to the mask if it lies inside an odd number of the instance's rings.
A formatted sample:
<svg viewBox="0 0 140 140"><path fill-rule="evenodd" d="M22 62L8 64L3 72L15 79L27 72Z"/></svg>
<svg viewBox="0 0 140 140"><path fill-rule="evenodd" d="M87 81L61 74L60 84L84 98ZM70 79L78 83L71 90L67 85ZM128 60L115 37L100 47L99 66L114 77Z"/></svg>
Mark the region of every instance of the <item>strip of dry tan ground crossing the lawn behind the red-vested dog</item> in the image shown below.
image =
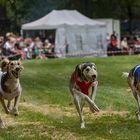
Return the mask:
<svg viewBox="0 0 140 140"><path fill-rule="evenodd" d="M57 116L68 116L73 117L77 115L77 111L74 105L70 107L60 107L57 105L33 105L31 103L21 103L21 106L26 107L34 112L40 112L45 115L55 115ZM124 117L128 115L129 111L113 111L113 110L101 110L98 113L91 113L88 107L84 107L84 113L90 113L92 116L95 117L102 117L102 116L112 116L112 115L119 115L120 117Z"/></svg>

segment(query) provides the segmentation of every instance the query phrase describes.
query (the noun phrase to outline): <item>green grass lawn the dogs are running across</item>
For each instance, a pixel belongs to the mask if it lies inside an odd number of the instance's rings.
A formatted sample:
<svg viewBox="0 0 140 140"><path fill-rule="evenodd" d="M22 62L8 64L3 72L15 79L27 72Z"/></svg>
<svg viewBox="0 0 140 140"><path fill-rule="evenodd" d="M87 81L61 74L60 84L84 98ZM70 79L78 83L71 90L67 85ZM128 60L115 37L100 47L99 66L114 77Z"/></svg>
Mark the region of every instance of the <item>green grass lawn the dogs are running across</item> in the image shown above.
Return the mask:
<svg viewBox="0 0 140 140"><path fill-rule="evenodd" d="M80 129L76 109L69 106L68 85L75 66L85 61L97 65L96 104L101 112L92 114L85 107L86 128ZM7 128L0 130L0 140L139 140L136 102L121 77L139 63L138 56L24 61L20 114L14 117L1 111Z"/></svg>

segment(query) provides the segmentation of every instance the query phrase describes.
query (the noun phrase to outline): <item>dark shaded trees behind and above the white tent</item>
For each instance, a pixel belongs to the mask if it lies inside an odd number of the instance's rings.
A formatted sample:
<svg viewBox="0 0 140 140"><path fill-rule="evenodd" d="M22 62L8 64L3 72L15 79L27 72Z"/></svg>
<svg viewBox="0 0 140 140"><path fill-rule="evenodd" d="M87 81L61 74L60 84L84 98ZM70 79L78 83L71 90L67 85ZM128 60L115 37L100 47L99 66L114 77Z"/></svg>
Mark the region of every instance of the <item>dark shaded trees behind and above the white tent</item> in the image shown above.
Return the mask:
<svg viewBox="0 0 140 140"><path fill-rule="evenodd" d="M76 9L90 18L119 19L122 34L139 34L139 0L0 0L0 34L20 33L22 24L53 9Z"/></svg>

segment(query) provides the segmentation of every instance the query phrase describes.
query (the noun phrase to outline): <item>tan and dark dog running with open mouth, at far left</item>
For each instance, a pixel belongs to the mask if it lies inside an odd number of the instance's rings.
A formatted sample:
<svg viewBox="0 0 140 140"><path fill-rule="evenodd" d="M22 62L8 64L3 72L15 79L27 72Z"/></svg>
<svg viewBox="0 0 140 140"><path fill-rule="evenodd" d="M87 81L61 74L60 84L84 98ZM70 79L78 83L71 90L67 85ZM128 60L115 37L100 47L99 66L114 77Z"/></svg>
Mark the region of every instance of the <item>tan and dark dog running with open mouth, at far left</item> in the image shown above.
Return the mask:
<svg viewBox="0 0 140 140"><path fill-rule="evenodd" d="M22 91L19 76L23 66L19 61L9 61L6 67L6 72L0 71L0 101L7 114L12 113L17 116L19 114L18 105ZM11 108L13 99L14 105ZM5 100L8 101L7 105Z"/></svg>

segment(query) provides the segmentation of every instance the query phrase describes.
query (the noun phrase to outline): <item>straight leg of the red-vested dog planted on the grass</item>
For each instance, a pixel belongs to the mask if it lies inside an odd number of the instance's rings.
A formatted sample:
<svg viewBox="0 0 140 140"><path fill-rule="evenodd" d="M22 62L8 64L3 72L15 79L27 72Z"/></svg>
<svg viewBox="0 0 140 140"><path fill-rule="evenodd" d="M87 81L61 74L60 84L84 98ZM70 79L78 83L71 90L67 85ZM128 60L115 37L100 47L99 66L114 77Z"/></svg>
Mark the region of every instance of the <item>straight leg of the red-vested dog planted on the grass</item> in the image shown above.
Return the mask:
<svg viewBox="0 0 140 140"><path fill-rule="evenodd" d="M83 106L84 106L84 101L82 98L76 94L74 94L74 104L76 106L76 109L78 111L79 117L80 117L80 127L85 128L85 122L83 118Z"/></svg>

